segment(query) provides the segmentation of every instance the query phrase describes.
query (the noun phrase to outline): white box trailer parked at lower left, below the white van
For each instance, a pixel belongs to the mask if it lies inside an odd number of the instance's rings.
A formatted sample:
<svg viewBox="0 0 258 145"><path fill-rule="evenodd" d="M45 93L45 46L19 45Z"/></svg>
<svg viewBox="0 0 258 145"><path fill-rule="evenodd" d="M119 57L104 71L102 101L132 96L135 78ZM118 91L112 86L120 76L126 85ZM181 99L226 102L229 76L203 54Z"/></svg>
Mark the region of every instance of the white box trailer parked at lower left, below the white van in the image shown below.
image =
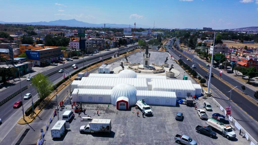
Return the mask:
<svg viewBox="0 0 258 145"><path fill-rule="evenodd" d="M52 138L61 138L65 134L65 123L66 120L58 120L57 123L51 129Z"/></svg>

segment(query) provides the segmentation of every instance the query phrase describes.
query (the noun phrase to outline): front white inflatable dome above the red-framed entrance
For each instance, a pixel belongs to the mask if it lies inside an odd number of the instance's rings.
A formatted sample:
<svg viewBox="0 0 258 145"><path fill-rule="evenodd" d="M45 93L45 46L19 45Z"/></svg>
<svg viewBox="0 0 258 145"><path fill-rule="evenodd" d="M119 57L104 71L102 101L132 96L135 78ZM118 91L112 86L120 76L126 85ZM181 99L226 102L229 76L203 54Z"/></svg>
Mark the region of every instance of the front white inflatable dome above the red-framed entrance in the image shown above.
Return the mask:
<svg viewBox="0 0 258 145"><path fill-rule="evenodd" d="M114 106L117 106L117 102L121 101L121 97L122 97L122 98L125 98L122 101L126 102L127 106L132 106L137 101L136 92L137 92L136 88L130 84L118 84L114 86L114 88L112 88L111 104L113 104Z"/></svg>

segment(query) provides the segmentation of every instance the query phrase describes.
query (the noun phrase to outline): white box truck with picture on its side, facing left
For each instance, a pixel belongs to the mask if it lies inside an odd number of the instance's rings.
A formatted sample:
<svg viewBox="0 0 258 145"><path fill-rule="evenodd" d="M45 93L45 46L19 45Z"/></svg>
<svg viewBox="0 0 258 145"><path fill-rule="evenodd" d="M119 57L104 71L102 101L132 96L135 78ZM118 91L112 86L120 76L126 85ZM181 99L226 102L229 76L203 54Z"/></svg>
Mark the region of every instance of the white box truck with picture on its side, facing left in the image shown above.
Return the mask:
<svg viewBox="0 0 258 145"><path fill-rule="evenodd" d="M92 119L88 125L80 127L80 133L111 132L111 119Z"/></svg>

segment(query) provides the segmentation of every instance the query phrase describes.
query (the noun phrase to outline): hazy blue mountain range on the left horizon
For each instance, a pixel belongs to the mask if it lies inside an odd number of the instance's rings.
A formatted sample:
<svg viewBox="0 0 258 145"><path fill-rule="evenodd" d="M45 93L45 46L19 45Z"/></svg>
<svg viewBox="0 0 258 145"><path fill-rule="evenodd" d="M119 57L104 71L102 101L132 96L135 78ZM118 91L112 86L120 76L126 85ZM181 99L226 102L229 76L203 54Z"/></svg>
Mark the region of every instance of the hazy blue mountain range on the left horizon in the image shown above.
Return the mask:
<svg viewBox="0 0 258 145"><path fill-rule="evenodd" d="M77 21L75 19L71 20L56 20L56 21L40 21L40 22L4 22L0 21L2 24L24 24L24 25L47 25L47 26L69 26L69 27L104 27L104 23L102 24L92 24L83 21ZM131 25L133 28L134 25ZM110 24L106 23L107 28L129 28L127 24ZM137 24L137 28L150 28L150 26Z"/></svg>

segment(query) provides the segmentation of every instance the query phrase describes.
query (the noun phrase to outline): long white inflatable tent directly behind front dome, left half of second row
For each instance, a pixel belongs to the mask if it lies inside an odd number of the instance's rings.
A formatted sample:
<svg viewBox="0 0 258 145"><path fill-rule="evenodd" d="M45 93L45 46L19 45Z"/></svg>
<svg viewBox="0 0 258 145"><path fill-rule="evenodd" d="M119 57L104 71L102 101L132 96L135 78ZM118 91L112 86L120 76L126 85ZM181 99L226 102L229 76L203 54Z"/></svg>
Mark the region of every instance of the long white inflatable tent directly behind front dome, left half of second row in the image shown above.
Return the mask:
<svg viewBox="0 0 258 145"><path fill-rule="evenodd" d="M108 89L111 90L117 84L130 84L137 90L148 90L146 78L97 78L83 77L77 88Z"/></svg>

